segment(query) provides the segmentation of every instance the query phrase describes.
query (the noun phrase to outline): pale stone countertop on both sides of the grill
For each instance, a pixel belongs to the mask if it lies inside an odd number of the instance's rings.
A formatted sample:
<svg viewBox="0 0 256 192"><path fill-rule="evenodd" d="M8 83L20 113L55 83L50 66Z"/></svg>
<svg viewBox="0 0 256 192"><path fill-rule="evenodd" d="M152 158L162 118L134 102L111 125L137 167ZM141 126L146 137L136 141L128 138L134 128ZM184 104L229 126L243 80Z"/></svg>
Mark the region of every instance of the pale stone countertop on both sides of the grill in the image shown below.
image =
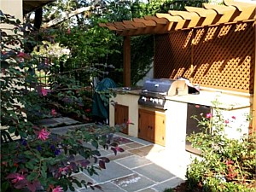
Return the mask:
<svg viewBox="0 0 256 192"><path fill-rule="evenodd" d="M139 96L140 88L114 88L113 91L118 94L130 94ZM183 96L166 96L166 99L173 102L186 102L208 107L216 107L212 102L218 101L218 108L225 110L235 110L239 108L248 108L251 106L249 96L237 96L220 91L201 90L200 94L183 95Z"/></svg>

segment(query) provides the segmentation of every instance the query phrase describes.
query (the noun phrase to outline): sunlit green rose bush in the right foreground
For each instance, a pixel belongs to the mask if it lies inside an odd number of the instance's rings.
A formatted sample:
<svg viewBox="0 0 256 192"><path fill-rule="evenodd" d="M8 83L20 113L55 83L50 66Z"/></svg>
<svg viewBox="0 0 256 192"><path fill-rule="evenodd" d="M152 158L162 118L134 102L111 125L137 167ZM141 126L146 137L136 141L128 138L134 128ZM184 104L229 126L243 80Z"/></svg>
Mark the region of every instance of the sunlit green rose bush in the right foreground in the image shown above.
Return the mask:
<svg viewBox="0 0 256 192"><path fill-rule="evenodd" d="M188 138L194 148L201 150L201 158L193 160L187 170L189 190L201 186L209 192L253 191L256 137L253 134L241 139L227 137L224 129L228 122L218 109L218 102L215 104L214 116L202 117L198 124L202 131Z"/></svg>

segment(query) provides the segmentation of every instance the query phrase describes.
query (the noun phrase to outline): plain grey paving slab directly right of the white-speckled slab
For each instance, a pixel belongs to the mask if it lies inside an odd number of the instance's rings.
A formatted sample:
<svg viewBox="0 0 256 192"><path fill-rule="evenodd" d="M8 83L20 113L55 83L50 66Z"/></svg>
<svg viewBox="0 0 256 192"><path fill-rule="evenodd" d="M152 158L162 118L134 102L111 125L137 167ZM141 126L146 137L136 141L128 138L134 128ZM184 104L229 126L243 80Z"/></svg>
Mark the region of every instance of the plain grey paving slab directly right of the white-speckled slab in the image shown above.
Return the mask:
<svg viewBox="0 0 256 192"><path fill-rule="evenodd" d="M155 182L163 182L172 177L175 177L175 175L173 175L171 172L168 172L162 167L157 166L155 164L141 166L136 169L133 169L133 171L138 172L139 174L142 174Z"/></svg>

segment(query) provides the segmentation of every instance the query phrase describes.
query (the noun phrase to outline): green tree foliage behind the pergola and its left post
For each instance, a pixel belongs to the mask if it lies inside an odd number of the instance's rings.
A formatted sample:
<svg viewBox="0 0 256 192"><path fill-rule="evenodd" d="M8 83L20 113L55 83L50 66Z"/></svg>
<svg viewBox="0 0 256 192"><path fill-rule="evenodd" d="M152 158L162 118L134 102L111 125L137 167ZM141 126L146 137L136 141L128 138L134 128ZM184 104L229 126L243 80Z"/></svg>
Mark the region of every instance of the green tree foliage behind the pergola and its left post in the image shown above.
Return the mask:
<svg viewBox="0 0 256 192"><path fill-rule="evenodd" d="M78 16L64 20L59 24L60 32L55 34L56 41L71 50L72 60L67 59L65 69L71 70L79 67L87 67L101 63L113 68L104 68L105 74L92 73L91 77L113 79L117 84L123 84L123 39L114 35L98 23L132 20L144 15L167 13L170 9L184 10L184 6L201 7L205 1L173 1L151 0L148 3L142 1L96 1L96 9L90 9ZM94 1L55 1L49 4L44 11L44 20L49 18L61 20L61 11L88 7L96 3ZM131 84L143 79L151 68L154 56L154 37L141 36L131 38ZM138 73L137 73L138 72ZM73 73L73 76L76 76ZM84 77L84 73L79 73ZM90 78L91 79L91 78ZM84 79L80 79L84 81Z"/></svg>

